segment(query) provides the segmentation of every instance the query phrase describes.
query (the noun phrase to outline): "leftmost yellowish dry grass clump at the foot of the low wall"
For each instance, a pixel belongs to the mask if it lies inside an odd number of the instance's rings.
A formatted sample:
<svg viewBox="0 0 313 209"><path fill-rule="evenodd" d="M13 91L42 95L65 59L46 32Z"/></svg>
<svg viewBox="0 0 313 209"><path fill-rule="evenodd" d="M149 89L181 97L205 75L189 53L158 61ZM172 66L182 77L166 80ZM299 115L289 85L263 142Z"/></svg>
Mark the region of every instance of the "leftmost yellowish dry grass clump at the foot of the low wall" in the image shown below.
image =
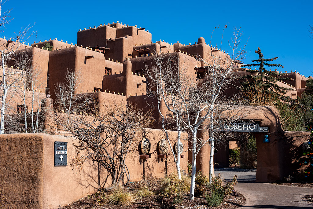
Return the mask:
<svg viewBox="0 0 313 209"><path fill-rule="evenodd" d="M105 198L105 203L112 205L129 206L134 202L134 195L121 185L116 186Z"/></svg>

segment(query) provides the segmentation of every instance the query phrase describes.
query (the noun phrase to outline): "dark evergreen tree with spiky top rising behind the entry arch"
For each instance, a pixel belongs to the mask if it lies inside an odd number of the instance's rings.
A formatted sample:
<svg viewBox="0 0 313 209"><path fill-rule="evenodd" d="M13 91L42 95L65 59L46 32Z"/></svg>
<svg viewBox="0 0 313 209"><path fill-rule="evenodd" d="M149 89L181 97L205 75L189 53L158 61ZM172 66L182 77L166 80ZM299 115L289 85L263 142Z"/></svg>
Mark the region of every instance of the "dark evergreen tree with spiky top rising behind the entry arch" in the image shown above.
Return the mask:
<svg viewBox="0 0 313 209"><path fill-rule="evenodd" d="M261 49L258 47L258 50L255 51L256 54L259 55L259 59L252 60L252 62L255 62L253 64L246 64L246 67L254 67L259 66L259 69L251 70L247 69L246 71L249 73L248 75L245 75L243 79L246 81L242 84L241 89L249 89L251 86L255 88L262 89L265 91L265 93L271 94L273 92L276 92L280 95L284 95L288 88L281 87L277 85L277 81L285 81L290 80L289 78L282 78L279 77L279 75L275 71L269 71L265 69L265 67L284 67L281 64L271 64L267 62L272 62L273 60L278 59L278 57L270 58L270 59L264 59L263 54L261 52ZM286 97L281 96L281 99L286 99Z"/></svg>

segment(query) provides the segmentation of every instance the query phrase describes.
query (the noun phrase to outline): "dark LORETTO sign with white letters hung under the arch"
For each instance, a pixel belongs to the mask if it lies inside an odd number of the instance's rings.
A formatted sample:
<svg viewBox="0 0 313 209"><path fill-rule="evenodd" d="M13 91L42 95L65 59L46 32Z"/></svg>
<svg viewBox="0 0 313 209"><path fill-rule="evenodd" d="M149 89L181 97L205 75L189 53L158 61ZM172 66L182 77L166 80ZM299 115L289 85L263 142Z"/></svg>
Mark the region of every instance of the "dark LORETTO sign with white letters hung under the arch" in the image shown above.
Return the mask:
<svg viewBox="0 0 313 209"><path fill-rule="evenodd" d="M222 131L235 132L269 132L268 127L259 127L258 123L228 123L221 126Z"/></svg>

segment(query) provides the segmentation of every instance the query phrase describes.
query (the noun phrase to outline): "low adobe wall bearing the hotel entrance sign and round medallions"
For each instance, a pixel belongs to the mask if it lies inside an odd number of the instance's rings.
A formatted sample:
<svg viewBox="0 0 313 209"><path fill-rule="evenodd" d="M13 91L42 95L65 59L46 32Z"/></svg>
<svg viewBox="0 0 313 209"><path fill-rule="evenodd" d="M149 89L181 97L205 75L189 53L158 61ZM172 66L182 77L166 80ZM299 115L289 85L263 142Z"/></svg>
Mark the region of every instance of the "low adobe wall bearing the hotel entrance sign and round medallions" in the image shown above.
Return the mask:
<svg viewBox="0 0 313 209"><path fill-rule="evenodd" d="M175 171L173 156L158 159L157 142L164 138L161 130L146 129L144 137L151 141L151 158L140 159L138 150L126 158L130 171L130 181L139 181L143 175L164 177ZM176 132L169 131L174 141ZM182 133L187 139L187 133ZM54 166L54 142L68 142L68 166ZM187 140L184 144L185 158L181 159L181 169L187 172ZM172 143L173 146L173 143ZM105 169L98 172L97 164L87 161L80 170L71 166L75 155L72 138L61 135L5 134L0 135L0 208L57 208L94 193L101 186L109 186L111 179Z"/></svg>

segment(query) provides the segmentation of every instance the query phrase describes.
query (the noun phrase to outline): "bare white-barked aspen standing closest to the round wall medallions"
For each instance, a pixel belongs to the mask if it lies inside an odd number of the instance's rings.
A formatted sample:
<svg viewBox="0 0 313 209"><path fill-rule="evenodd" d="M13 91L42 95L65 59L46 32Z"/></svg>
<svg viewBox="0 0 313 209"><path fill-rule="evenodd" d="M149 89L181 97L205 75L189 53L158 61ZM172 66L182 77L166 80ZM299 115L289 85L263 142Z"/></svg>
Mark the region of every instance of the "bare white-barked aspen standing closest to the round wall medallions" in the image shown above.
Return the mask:
<svg viewBox="0 0 313 209"><path fill-rule="evenodd" d="M162 129L171 148L178 178L181 179L181 134L182 131L188 130L185 123L188 106L184 102L188 97L192 78L187 71L187 62L179 62L179 59L179 53L155 53L151 67L146 66L146 70L151 81L148 96L157 98L156 107L162 117ZM165 105L167 112L162 112L162 105ZM177 131L175 147L172 146L167 133L167 126L171 125L174 125Z"/></svg>

